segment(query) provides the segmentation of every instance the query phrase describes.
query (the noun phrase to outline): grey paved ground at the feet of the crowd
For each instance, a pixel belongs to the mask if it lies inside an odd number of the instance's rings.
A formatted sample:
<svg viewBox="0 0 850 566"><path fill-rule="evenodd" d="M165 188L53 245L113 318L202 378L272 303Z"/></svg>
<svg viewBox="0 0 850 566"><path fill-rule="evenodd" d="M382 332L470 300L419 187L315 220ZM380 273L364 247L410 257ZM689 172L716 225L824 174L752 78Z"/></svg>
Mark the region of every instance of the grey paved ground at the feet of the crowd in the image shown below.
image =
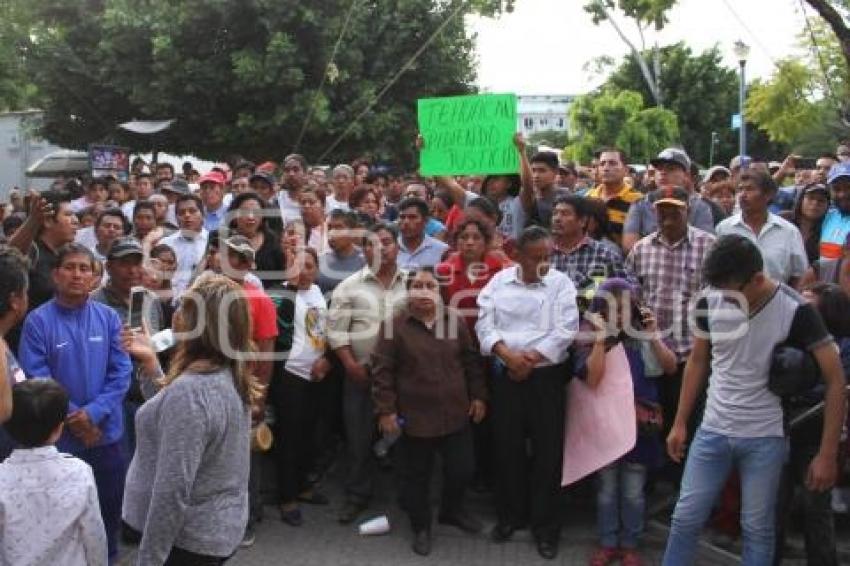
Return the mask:
<svg viewBox="0 0 850 566"><path fill-rule="evenodd" d="M387 514L391 532L379 537L362 537L357 532L357 524L342 526L337 523L336 512L342 501L339 474L340 466L337 465L332 469L322 487L322 491L330 496L331 505L304 506L305 521L301 528L293 528L282 523L275 508L267 506L265 518L257 528L257 542L251 548L241 549L228 565L585 565L596 543L592 506L587 501L573 501L566 504L561 552L557 560L550 562L540 558L528 531L518 533L511 542L494 544L486 536L489 528L495 523L495 513L489 502L489 496L471 494L468 507L484 521L487 527L485 532L478 536L469 536L452 527L435 525L431 556L421 558L413 554L410 549L411 531L406 517L399 511L394 501L392 473L381 473L382 489L378 491L384 495L378 498L372 508L357 522ZM435 493L436 488L432 490L432 495ZM666 534L663 530L650 525L644 545L647 564L660 564L665 539ZM133 553L128 552L122 564L131 564L132 557ZM734 560L706 549L701 551L698 562L706 566L735 563Z"/></svg>

